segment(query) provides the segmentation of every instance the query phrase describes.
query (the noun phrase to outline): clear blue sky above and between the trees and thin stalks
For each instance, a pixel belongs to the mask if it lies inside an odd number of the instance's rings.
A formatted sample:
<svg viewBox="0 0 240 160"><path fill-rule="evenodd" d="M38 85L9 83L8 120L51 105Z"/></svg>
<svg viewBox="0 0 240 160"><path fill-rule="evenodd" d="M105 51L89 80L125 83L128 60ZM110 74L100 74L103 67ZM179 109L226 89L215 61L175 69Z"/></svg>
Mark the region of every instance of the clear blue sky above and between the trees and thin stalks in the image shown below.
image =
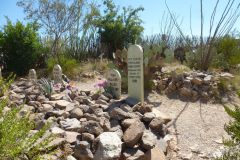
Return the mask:
<svg viewBox="0 0 240 160"><path fill-rule="evenodd" d="M144 35L158 34L161 32L161 22L163 14L168 12L165 0L113 0L120 8L122 6L144 7L140 13L143 20ZM220 0L216 14L216 21L220 18L227 0ZM238 0L237 0L238 1ZM13 22L24 21L23 9L16 5L17 0L0 0L0 27L6 24L5 16ZM209 19L216 0L203 0L204 13L204 35L209 33ZM178 21L185 34L190 34L190 8L191 27L194 35L200 34L200 2L199 0L167 0L167 4L172 13L177 15ZM237 21L235 29L240 31L240 19Z"/></svg>

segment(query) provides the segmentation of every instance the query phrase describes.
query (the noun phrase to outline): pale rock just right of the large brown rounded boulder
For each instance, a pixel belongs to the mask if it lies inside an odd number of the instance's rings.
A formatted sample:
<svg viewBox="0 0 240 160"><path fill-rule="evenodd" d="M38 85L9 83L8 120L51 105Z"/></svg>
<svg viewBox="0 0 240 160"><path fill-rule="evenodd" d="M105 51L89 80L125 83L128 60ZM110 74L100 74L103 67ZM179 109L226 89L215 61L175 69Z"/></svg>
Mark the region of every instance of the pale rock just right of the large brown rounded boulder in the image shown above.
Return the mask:
<svg viewBox="0 0 240 160"><path fill-rule="evenodd" d="M146 150L152 149L157 141L157 137L149 130L145 130L142 135L142 147Z"/></svg>

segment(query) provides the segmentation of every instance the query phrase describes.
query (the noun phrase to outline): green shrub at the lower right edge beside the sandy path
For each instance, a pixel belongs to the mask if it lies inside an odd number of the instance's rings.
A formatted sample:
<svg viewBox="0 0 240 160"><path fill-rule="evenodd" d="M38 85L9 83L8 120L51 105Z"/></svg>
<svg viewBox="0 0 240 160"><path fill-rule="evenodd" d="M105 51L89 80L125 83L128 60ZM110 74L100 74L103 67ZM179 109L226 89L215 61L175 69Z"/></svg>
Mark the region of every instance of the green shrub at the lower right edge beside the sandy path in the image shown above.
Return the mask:
<svg viewBox="0 0 240 160"><path fill-rule="evenodd" d="M225 106L224 108L232 118L224 127L226 132L231 136L231 139L224 141L227 149L218 160L238 160L240 159L240 107L235 106L234 109L230 109Z"/></svg>

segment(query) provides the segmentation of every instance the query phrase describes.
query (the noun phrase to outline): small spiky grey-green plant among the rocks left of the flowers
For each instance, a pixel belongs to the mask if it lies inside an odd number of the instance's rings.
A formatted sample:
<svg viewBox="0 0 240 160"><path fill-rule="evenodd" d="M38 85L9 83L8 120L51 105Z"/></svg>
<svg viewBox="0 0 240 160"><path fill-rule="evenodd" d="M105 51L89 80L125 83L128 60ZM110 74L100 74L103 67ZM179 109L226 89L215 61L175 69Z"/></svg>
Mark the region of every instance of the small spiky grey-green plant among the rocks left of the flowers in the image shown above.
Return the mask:
<svg viewBox="0 0 240 160"><path fill-rule="evenodd" d="M52 82L48 81L45 78L41 78L38 82L38 85L40 86L40 89L43 92L43 94L45 94L48 98L50 98L53 93Z"/></svg>

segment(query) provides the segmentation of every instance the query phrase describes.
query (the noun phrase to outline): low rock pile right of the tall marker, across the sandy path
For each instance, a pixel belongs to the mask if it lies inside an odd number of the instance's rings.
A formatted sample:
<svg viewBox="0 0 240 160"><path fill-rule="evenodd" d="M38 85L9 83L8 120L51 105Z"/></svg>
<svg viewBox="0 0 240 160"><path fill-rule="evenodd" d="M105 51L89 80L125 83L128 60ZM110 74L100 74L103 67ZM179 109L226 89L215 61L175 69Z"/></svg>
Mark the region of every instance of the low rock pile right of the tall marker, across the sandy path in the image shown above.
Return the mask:
<svg viewBox="0 0 240 160"><path fill-rule="evenodd" d="M221 97L221 80L233 78L230 73L203 73L203 72L186 72L181 74L164 74L155 73L153 81L156 90L164 91L169 96L177 96L183 100L208 101ZM226 86L228 89L229 86ZM226 93L225 93L226 94Z"/></svg>

